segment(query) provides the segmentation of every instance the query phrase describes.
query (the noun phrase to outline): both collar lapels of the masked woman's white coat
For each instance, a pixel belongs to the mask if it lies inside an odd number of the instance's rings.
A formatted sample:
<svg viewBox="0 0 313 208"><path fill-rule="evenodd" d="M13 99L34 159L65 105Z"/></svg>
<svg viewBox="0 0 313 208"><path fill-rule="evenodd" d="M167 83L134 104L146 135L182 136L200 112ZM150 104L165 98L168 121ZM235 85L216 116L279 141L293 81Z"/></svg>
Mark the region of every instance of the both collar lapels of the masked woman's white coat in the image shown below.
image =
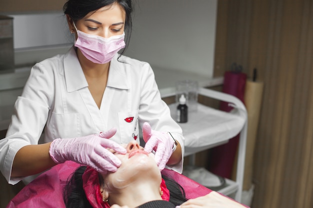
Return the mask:
<svg viewBox="0 0 313 208"><path fill-rule="evenodd" d="M110 62L106 86L118 89L129 89L123 63L118 62L117 58L118 54L116 54ZM64 56L64 74L67 92L73 92L88 87L74 47L69 49Z"/></svg>

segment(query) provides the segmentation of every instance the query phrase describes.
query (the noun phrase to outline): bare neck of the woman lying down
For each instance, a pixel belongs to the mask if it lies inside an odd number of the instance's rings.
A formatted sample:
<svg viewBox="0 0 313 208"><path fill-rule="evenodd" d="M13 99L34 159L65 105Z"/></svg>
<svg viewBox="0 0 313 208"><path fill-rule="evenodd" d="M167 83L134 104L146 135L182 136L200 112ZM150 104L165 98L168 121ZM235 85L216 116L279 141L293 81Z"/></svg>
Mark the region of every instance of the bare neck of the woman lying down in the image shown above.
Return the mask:
<svg viewBox="0 0 313 208"><path fill-rule="evenodd" d="M120 207L136 208L155 200L162 200L159 193L159 185L141 182L110 193L108 202L110 205L117 204Z"/></svg>

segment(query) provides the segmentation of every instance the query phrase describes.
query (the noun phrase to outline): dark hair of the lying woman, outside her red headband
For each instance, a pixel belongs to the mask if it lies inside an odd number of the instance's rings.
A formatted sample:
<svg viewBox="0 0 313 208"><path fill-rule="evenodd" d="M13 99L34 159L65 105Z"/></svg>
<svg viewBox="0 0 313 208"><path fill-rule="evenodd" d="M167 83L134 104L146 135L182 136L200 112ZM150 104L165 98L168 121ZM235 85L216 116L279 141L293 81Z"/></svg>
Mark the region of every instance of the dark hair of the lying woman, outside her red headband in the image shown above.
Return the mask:
<svg viewBox="0 0 313 208"><path fill-rule="evenodd" d="M67 181L63 191L66 208L92 208L82 188L82 174L85 170L86 166L80 166ZM177 182L165 176L162 178L169 190L169 202L177 206L187 201L183 188Z"/></svg>

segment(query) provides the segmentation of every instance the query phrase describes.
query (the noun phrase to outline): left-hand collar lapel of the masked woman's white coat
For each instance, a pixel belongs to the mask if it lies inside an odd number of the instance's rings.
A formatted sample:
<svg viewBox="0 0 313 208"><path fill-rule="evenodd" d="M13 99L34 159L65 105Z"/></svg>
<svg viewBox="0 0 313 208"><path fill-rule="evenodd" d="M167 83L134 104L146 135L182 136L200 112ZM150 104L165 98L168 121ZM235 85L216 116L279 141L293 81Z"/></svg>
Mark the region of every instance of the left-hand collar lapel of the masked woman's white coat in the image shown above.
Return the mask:
<svg viewBox="0 0 313 208"><path fill-rule="evenodd" d="M63 63L67 92L73 92L88 86L74 47L70 48L64 55Z"/></svg>

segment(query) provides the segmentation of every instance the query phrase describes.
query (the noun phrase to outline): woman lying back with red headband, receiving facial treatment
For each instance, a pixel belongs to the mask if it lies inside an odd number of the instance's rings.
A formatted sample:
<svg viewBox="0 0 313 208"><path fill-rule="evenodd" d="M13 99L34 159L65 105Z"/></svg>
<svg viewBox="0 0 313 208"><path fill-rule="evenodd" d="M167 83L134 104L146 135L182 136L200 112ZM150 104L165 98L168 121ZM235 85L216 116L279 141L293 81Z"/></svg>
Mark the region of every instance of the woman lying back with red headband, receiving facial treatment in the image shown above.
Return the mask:
<svg viewBox="0 0 313 208"><path fill-rule="evenodd" d="M152 153L135 141L124 147L125 155L112 151L121 161L114 173L76 169L64 189L66 208L244 208L216 192L187 201L179 184L161 176Z"/></svg>

